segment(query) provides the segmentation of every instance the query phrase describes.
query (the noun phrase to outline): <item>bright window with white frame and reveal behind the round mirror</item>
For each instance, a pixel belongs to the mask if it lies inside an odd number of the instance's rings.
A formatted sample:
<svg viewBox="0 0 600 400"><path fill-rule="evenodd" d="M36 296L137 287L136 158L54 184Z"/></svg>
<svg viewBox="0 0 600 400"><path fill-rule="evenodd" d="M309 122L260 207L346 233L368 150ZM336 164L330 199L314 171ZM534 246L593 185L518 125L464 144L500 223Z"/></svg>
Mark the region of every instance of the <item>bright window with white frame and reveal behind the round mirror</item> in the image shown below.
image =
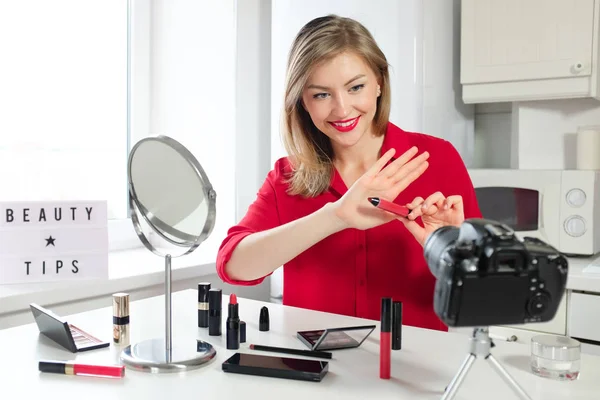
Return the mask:
<svg viewBox="0 0 600 400"><path fill-rule="evenodd" d="M0 201L106 199L111 248L140 246L127 157L163 134L234 220L235 1L0 2ZM207 17L210 16L210 17Z"/></svg>

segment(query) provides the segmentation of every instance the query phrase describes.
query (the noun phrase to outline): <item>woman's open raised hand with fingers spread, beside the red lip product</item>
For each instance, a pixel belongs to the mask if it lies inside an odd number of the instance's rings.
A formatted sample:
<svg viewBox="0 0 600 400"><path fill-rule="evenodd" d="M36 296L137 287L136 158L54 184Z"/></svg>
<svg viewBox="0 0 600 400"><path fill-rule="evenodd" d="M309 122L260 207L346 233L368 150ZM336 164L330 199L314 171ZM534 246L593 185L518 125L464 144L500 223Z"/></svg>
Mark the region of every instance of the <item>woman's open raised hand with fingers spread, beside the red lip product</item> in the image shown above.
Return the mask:
<svg viewBox="0 0 600 400"><path fill-rule="evenodd" d="M333 211L345 228L364 230L395 219L393 214L373 207L368 197L394 201L429 166L429 153L424 152L414 157L418 152L416 147L407 150L386 166L395 152L395 149L388 150L341 199L333 203Z"/></svg>

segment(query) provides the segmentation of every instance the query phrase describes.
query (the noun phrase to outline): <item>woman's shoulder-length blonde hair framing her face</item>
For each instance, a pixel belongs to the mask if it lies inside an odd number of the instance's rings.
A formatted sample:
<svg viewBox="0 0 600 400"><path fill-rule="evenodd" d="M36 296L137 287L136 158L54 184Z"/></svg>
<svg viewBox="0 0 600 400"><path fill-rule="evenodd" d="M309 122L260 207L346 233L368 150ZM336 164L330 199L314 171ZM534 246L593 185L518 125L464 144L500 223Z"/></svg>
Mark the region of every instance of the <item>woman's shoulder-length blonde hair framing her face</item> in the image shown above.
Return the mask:
<svg viewBox="0 0 600 400"><path fill-rule="evenodd" d="M359 22L337 15L308 22L296 36L288 57L282 136L292 171L288 193L316 197L326 191L334 171L329 138L317 129L302 106L302 92L312 68L344 52L362 57L381 86L373 134L385 134L391 104L388 62L371 33Z"/></svg>

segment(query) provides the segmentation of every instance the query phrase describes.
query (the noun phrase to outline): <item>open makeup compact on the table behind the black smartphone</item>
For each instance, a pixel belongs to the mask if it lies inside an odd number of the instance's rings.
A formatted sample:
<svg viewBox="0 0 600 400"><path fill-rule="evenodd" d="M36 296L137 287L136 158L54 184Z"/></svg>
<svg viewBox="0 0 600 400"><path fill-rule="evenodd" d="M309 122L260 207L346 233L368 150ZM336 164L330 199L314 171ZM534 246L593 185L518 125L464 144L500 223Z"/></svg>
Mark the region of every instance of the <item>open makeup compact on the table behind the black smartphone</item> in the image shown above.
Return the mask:
<svg viewBox="0 0 600 400"><path fill-rule="evenodd" d="M300 331L298 339L311 350L339 350L358 347L375 329L375 325Z"/></svg>

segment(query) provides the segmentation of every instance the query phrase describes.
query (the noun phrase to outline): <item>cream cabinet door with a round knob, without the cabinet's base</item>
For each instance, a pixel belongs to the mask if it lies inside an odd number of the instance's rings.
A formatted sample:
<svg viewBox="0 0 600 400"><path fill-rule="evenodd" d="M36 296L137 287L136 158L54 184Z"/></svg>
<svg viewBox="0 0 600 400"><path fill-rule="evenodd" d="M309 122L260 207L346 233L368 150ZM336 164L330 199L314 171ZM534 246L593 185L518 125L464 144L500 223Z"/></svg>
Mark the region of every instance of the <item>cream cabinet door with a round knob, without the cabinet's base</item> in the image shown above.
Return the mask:
<svg viewBox="0 0 600 400"><path fill-rule="evenodd" d="M461 83L589 76L594 0L462 0Z"/></svg>

